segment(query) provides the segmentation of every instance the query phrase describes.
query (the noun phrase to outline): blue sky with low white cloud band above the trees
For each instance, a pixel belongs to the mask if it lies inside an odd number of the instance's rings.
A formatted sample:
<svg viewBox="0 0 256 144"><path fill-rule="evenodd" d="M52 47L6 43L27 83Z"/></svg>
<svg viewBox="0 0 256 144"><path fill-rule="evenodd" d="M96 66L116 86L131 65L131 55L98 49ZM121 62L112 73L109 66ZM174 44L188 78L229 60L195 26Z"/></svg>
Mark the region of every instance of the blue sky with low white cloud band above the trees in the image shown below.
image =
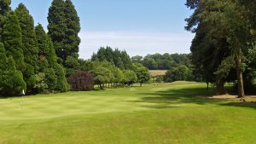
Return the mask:
<svg viewBox="0 0 256 144"><path fill-rule="evenodd" d="M35 24L47 31L51 0L13 0L26 4ZM192 13L185 0L73 0L81 22L79 55L89 59L101 46L125 49L129 55L189 53L194 34L184 30Z"/></svg>

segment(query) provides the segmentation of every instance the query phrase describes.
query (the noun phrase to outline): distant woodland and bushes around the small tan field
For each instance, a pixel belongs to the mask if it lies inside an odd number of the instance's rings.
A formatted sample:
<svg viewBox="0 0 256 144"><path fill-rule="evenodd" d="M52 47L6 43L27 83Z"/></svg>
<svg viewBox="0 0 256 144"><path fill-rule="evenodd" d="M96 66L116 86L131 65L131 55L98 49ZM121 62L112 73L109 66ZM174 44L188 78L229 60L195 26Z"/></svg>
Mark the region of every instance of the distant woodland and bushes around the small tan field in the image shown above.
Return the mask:
<svg viewBox="0 0 256 144"><path fill-rule="evenodd" d="M198 81L201 76L193 72L191 54L154 54L131 57L134 63L140 63L149 70L167 70L164 76L154 76L152 82L174 82L174 81Z"/></svg>

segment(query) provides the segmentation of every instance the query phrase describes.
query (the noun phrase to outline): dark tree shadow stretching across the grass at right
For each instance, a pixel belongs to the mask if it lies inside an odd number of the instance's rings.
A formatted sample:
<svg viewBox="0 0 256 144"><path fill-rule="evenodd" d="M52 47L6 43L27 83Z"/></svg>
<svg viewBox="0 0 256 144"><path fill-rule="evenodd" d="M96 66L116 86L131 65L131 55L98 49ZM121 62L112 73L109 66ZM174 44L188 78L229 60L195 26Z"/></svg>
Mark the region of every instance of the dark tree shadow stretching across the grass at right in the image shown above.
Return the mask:
<svg viewBox="0 0 256 144"><path fill-rule="evenodd" d="M170 89L166 91L156 91L154 93L140 93L139 95L143 96L141 100L130 102L152 103L154 106L143 107L151 107L156 109L174 108L176 107L175 105L178 104L215 104L219 106L250 107L256 109L255 103L210 99L209 97L213 94L213 89L207 90L205 88Z"/></svg>

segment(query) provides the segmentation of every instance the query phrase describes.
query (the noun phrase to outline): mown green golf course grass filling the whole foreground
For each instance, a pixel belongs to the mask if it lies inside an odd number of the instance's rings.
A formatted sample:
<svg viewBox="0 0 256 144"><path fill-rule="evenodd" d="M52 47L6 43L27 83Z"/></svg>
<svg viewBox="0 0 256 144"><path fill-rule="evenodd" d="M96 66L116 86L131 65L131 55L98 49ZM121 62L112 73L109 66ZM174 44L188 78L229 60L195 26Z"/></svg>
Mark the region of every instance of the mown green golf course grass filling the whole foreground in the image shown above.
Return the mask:
<svg viewBox="0 0 256 144"><path fill-rule="evenodd" d="M256 106L206 84L0 98L0 144L256 143Z"/></svg>

